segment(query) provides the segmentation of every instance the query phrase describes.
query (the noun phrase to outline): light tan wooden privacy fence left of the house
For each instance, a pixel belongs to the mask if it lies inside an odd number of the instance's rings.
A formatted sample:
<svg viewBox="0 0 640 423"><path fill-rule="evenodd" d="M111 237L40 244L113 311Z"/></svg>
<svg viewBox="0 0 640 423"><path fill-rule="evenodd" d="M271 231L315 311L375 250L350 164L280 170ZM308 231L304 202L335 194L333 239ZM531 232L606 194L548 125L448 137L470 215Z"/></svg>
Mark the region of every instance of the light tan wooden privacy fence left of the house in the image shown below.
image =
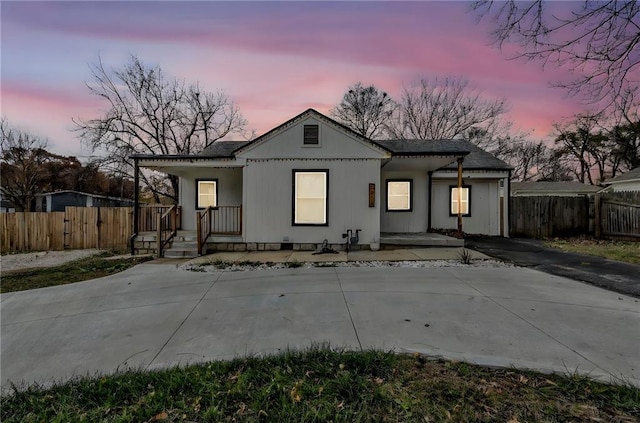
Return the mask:
<svg viewBox="0 0 640 423"><path fill-rule="evenodd" d="M131 207L66 207L64 212L0 214L3 253L102 248L124 250L132 231Z"/></svg>

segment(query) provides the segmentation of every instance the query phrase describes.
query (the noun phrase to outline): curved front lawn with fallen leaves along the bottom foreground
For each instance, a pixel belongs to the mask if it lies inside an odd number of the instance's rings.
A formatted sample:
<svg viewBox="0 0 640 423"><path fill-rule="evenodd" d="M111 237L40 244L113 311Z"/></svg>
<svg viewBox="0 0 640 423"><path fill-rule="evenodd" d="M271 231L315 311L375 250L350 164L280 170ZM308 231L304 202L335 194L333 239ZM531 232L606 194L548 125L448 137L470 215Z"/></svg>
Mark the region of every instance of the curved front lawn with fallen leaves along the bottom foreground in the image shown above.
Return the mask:
<svg viewBox="0 0 640 423"><path fill-rule="evenodd" d="M640 390L317 348L5 392L3 422L633 422Z"/></svg>

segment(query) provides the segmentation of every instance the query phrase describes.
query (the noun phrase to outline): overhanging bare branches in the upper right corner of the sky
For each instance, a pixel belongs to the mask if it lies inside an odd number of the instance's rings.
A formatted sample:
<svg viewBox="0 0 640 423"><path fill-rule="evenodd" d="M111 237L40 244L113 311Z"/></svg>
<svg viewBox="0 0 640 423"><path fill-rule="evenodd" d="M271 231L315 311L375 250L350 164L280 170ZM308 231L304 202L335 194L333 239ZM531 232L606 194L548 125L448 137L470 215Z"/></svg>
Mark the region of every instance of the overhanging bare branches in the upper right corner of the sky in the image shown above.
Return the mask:
<svg viewBox="0 0 640 423"><path fill-rule="evenodd" d="M500 48L513 42L519 57L569 69L575 79L555 85L570 94L607 108L625 90L638 89L640 2L481 0L472 9L493 18Z"/></svg>

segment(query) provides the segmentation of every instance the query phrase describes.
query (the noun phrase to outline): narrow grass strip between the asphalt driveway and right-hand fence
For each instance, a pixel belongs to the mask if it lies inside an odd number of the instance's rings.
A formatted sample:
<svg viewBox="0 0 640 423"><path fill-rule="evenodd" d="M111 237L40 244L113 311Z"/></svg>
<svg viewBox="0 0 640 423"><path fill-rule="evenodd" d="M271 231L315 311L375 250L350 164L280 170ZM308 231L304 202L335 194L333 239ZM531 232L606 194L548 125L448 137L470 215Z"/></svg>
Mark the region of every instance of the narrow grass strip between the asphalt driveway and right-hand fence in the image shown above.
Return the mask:
<svg viewBox="0 0 640 423"><path fill-rule="evenodd" d="M589 254L610 260L640 264L640 242L610 241L593 238L556 238L546 242L548 247L571 253Z"/></svg>

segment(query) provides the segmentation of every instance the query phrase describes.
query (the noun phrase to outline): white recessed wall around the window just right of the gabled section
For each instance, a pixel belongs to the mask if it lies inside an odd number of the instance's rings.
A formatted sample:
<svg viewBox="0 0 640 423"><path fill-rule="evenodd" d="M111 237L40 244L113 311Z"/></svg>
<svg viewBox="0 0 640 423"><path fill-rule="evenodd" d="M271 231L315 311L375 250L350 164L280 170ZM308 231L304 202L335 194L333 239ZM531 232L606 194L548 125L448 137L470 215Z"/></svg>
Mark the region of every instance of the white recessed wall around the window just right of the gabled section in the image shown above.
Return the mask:
<svg viewBox="0 0 640 423"><path fill-rule="evenodd" d="M426 171L384 171L380 177L381 196L381 232L426 232L428 223L428 174ZM387 205L387 179L411 179L412 189L412 210L386 211Z"/></svg>

